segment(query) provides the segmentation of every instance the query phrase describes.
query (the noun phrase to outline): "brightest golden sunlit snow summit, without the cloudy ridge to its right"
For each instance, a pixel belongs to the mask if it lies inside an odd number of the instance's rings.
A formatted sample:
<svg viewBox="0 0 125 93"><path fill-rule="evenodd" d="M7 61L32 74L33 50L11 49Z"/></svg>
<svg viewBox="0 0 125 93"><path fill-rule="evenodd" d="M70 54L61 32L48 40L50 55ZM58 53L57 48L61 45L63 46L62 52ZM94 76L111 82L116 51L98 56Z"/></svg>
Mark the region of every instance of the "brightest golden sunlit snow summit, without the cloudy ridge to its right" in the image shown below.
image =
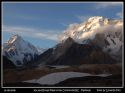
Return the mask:
<svg viewBox="0 0 125 93"><path fill-rule="evenodd" d="M77 42L86 37L84 33L91 32L97 28L107 25L109 20L101 16L94 16L89 18L86 22L81 24L72 24L68 29L64 31L64 34L60 36L61 41L68 37L73 38Z"/></svg>

